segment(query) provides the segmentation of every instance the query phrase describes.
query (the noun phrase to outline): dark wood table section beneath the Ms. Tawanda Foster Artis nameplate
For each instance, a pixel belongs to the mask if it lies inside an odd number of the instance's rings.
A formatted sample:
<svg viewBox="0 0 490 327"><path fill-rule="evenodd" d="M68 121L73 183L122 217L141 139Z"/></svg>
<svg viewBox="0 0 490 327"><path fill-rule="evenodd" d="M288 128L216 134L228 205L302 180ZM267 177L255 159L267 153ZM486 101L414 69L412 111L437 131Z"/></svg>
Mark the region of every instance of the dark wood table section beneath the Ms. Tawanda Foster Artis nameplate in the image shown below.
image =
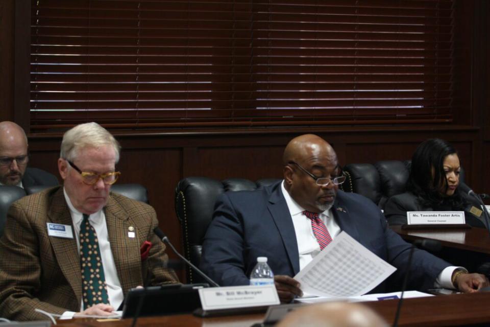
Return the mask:
<svg viewBox="0 0 490 327"><path fill-rule="evenodd" d="M402 229L401 226L390 226L390 228L407 241L431 239L440 241L445 247L490 254L490 235L485 228L411 230Z"/></svg>

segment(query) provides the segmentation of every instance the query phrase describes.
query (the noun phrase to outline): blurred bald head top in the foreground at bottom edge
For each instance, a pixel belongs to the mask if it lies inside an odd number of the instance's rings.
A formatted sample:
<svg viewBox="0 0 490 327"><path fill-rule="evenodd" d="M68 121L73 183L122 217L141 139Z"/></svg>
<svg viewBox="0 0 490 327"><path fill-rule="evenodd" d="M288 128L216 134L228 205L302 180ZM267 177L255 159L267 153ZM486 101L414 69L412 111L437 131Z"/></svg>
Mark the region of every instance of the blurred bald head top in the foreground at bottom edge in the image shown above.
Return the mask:
<svg viewBox="0 0 490 327"><path fill-rule="evenodd" d="M330 302L287 314L277 327L388 327L376 312L360 303Z"/></svg>

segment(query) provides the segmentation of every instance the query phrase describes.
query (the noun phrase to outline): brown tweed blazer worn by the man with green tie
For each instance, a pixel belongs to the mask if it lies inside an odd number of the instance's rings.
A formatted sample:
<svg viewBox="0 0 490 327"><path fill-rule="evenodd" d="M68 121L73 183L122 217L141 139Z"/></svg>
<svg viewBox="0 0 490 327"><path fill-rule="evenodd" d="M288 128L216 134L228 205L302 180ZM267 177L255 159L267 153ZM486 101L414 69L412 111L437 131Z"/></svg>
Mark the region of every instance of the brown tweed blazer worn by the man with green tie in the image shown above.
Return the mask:
<svg viewBox="0 0 490 327"><path fill-rule="evenodd" d="M124 294L143 285L147 275L151 285L178 282L173 271L162 267L168 258L153 233L158 221L150 205L111 193L104 212ZM80 311L82 276L76 238L48 236L47 222L74 230L60 186L24 197L9 209L0 239L0 317L45 320L34 309L58 314ZM136 232L134 238L128 237L130 226ZM146 240L153 246L142 262L140 247Z"/></svg>

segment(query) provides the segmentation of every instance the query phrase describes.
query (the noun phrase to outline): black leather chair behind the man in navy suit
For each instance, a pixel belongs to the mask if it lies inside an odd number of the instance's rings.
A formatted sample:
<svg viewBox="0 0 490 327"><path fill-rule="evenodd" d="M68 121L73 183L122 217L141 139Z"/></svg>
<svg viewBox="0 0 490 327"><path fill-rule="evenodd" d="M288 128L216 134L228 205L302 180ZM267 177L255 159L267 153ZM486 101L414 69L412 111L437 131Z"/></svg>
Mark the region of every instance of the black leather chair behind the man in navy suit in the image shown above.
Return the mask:
<svg viewBox="0 0 490 327"><path fill-rule="evenodd" d="M196 266L201 261L204 235L211 222L217 197L228 191L253 191L279 179L261 179L257 182L243 178L223 181L208 177L187 177L179 181L175 189L175 211L179 219L184 244L184 255ZM204 280L187 269L187 283L202 283Z"/></svg>

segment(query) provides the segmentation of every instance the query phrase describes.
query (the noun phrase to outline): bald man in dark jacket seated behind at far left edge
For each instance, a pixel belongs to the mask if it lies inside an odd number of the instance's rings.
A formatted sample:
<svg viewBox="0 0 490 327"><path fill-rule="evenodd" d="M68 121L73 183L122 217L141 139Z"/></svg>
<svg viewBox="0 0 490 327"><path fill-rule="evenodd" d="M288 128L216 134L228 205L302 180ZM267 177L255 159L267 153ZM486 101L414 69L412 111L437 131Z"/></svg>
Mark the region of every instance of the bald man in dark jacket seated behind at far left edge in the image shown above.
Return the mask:
<svg viewBox="0 0 490 327"><path fill-rule="evenodd" d="M58 179L29 162L27 135L13 122L0 123L0 185L25 188L36 185L55 186Z"/></svg>

